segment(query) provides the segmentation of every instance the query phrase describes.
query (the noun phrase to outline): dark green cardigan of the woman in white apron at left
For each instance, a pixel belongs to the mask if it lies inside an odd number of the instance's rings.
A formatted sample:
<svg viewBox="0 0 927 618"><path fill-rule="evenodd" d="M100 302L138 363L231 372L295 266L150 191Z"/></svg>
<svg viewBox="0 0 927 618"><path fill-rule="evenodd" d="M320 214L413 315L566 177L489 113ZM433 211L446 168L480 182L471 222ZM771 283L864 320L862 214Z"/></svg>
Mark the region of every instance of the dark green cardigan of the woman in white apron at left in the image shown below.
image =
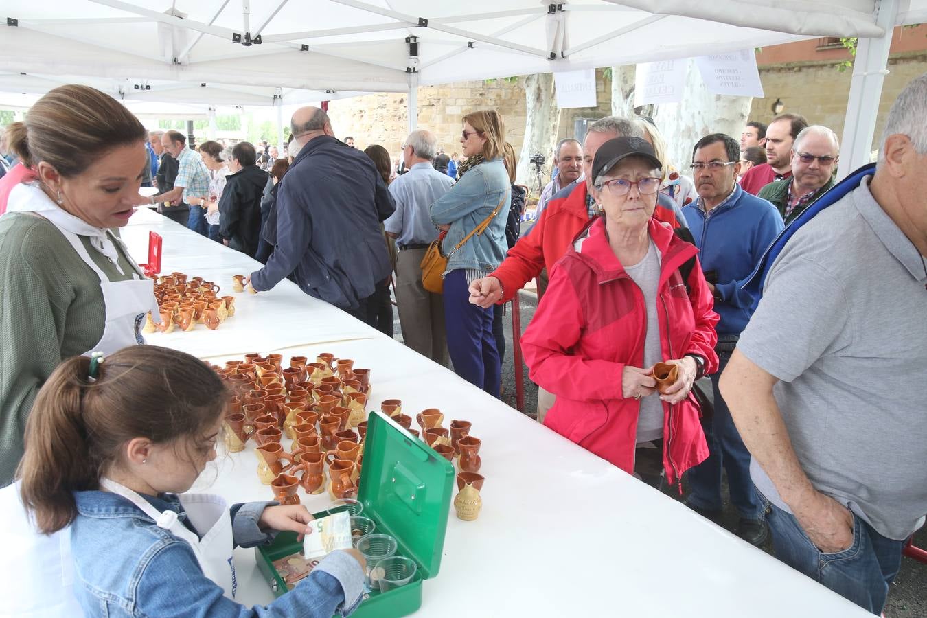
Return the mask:
<svg viewBox="0 0 927 618"><path fill-rule="evenodd" d="M110 281L132 278L80 236ZM28 213L0 217L0 486L13 481L22 458L32 402L63 359L94 347L103 336L105 306L100 279L51 222Z"/></svg>

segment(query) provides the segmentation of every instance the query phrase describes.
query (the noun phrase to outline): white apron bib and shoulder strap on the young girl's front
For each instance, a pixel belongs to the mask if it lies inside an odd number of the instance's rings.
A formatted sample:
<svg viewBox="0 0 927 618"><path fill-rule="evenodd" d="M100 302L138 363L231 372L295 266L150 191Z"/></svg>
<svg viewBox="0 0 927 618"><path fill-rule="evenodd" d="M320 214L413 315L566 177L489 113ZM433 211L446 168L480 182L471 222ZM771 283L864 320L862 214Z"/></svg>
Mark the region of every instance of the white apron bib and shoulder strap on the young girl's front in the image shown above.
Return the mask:
<svg viewBox="0 0 927 618"><path fill-rule="evenodd" d="M176 512L158 511L132 489L107 478L100 480L100 486L122 498L132 500L136 507L158 523L159 528L164 528L171 535L184 539L193 549L203 574L222 587L226 597L235 599L237 584L235 564L232 561L235 540L232 536L232 518L229 516L228 505L224 498L212 494L181 494L179 496L187 519L198 532L203 533L200 538L177 519Z"/></svg>

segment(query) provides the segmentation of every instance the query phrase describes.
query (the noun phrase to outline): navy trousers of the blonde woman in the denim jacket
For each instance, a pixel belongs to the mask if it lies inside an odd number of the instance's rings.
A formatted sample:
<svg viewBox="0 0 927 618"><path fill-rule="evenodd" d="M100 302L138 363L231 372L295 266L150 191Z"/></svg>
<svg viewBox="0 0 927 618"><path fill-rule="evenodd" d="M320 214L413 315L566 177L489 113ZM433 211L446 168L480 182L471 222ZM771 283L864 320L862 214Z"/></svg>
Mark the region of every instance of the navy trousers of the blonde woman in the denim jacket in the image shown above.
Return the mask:
<svg viewBox="0 0 927 618"><path fill-rule="evenodd" d="M492 319L491 308L470 304L466 272L449 272L444 278L444 323L454 372L492 397L499 397L502 362L492 334Z"/></svg>

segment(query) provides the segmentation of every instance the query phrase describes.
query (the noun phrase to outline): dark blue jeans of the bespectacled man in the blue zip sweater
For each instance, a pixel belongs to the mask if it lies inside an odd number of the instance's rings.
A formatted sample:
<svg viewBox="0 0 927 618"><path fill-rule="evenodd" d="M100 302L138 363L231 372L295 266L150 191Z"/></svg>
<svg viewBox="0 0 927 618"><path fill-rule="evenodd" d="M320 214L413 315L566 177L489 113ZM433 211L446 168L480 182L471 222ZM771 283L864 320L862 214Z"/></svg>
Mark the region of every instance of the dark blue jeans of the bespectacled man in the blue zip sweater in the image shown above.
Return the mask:
<svg viewBox="0 0 927 618"><path fill-rule="evenodd" d="M719 355L717 373L711 375L715 391L715 415L702 423L708 443L708 459L689 471L692 495L689 504L706 511L721 510L721 468L728 473L730 502L745 519L759 519L760 504L750 480L750 451L730 418L728 404L717 390L717 381L728 365L730 354Z"/></svg>

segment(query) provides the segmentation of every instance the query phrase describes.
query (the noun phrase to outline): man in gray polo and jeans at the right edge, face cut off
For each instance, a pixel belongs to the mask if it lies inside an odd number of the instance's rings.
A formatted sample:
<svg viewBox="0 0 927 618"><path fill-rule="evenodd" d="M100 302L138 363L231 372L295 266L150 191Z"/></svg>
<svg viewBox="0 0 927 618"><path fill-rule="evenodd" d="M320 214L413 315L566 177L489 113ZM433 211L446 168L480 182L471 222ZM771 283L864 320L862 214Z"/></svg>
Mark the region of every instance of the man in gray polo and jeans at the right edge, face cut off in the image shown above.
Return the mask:
<svg viewBox="0 0 927 618"><path fill-rule="evenodd" d="M875 614L927 512L925 116L927 74L889 112L874 176L773 262L720 385L776 556Z"/></svg>

